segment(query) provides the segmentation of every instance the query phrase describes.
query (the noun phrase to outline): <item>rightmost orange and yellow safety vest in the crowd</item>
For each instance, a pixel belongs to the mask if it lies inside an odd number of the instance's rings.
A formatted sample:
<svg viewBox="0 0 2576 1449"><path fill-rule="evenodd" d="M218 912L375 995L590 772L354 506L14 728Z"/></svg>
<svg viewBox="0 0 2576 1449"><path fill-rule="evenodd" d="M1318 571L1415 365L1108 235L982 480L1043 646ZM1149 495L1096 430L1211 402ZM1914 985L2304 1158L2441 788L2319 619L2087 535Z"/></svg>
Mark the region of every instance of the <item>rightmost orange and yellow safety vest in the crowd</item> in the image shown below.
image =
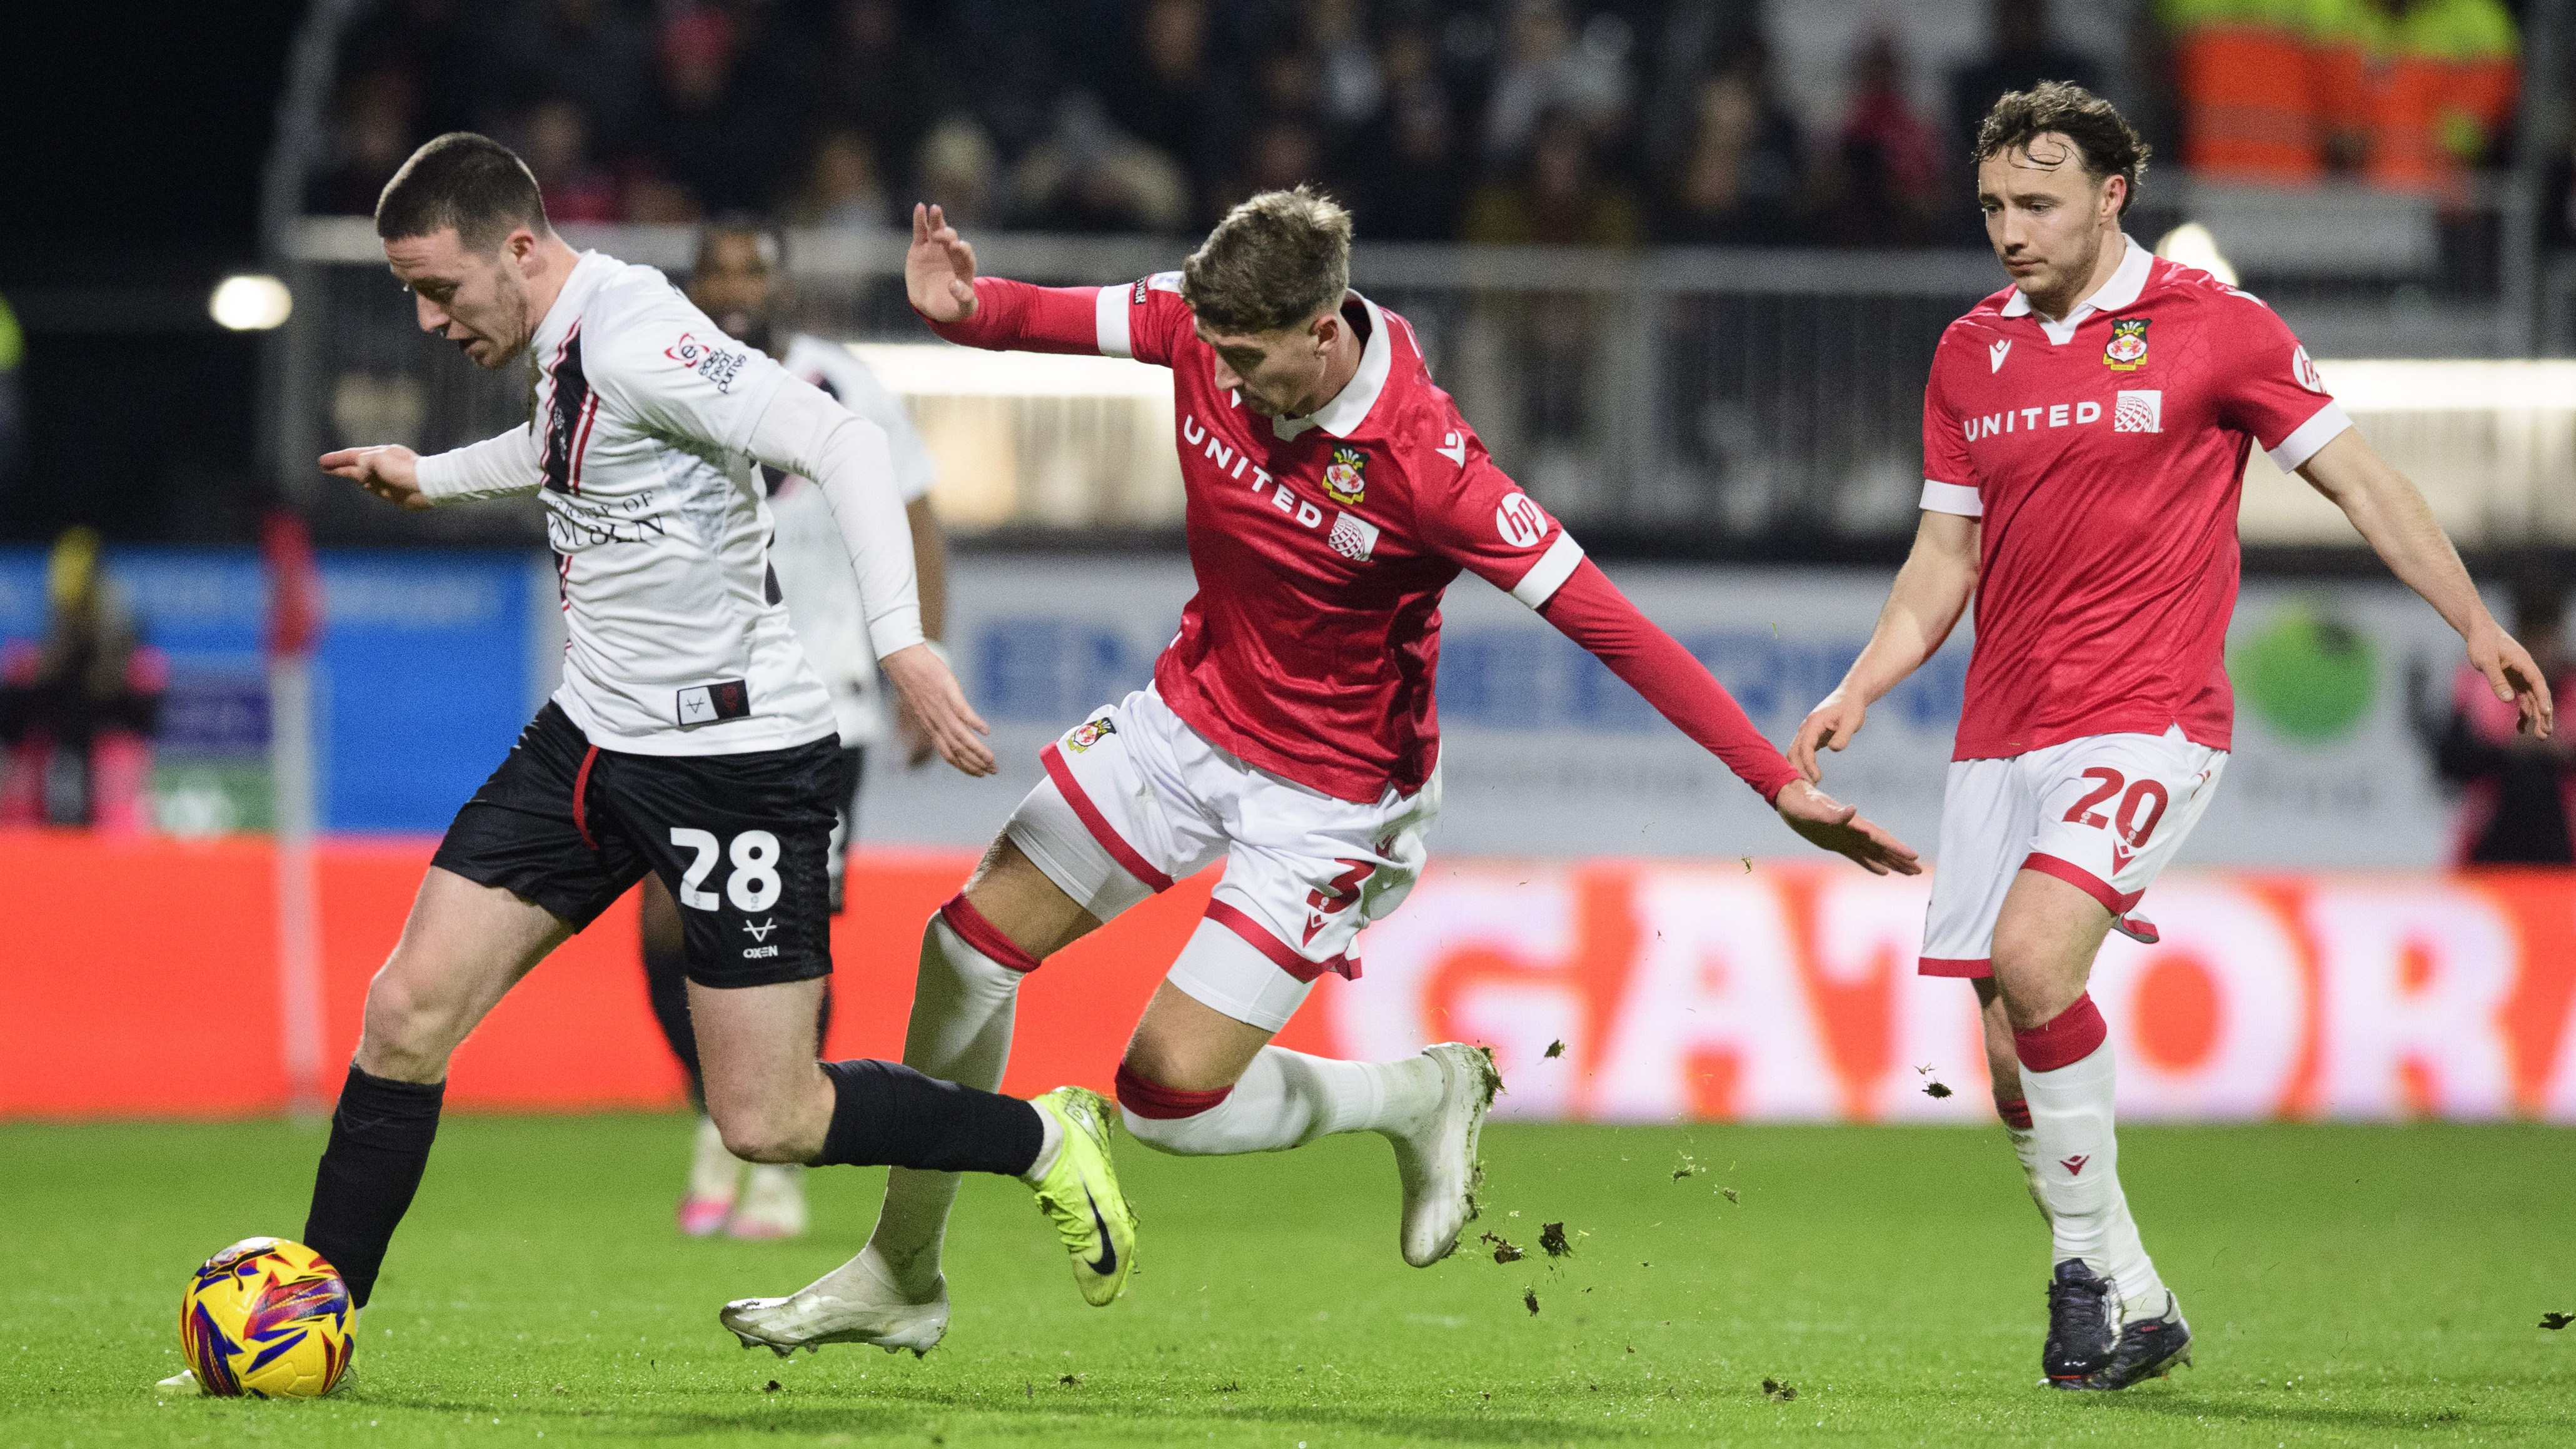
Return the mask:
<svg viewBox="0 0 2576 1449"><path fill-rule="evenodd" d="M2339 0L2318 36L2326 116L2362 131L2372 186L2460 193L2519 88L2519 36L2499 0Z"/></svg>

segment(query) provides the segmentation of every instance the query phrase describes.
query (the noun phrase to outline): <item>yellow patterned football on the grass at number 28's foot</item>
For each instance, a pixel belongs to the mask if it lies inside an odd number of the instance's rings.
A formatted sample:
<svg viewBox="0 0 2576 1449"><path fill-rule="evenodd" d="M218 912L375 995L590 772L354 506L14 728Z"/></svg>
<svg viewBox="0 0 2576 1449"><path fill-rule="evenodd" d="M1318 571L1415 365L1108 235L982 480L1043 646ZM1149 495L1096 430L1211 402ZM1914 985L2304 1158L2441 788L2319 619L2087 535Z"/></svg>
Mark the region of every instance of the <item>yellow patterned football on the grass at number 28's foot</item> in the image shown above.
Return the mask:
<svg viewBox="0 0 2576 1449"><path fill-rule="evenodd" d="M178 1343L201 1392L322 1397L348 1372L350 1312L348 1284L322 1253L242 1238L188 1281Z"/></svg>

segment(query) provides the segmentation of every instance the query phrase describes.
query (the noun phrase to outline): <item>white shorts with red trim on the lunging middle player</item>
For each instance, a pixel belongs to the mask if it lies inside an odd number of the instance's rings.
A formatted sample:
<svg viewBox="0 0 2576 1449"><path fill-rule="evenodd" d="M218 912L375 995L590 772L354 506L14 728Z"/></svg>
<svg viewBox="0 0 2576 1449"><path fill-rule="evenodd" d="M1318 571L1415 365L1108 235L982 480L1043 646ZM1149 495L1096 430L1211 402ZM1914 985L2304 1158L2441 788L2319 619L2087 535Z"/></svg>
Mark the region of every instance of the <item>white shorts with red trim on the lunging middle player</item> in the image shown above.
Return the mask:
<svg viewBox="0 0 2576 1449"><path fill-rule="evenodd" d="M1182 951L1172 985L1236 1021L1278 1031L1324 972L1358 980L1360 928L1422 874L1440 773L1376 804L1334 799L1211 745L1151 686L1097 709L1041 753L1046 781L1007 835L1100 920L1198 874L1226 877L1200 926L1242 949Z"/></svg>

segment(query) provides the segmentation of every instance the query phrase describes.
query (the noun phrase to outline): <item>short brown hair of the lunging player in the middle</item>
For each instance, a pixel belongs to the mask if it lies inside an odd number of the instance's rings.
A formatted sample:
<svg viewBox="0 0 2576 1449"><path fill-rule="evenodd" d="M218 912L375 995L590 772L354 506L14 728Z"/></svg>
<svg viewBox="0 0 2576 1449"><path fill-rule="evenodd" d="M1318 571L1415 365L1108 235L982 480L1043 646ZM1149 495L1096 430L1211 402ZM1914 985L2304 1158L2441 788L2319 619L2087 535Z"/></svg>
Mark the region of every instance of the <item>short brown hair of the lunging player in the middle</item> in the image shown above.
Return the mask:
<svg viewBox="0 0 2576 1449"><path fill-rule="evenodd" d="M1314 191L1262 191L1180 266L1180 299L1218 333L1278 333L1350 291L1350 211Z"/></svg>

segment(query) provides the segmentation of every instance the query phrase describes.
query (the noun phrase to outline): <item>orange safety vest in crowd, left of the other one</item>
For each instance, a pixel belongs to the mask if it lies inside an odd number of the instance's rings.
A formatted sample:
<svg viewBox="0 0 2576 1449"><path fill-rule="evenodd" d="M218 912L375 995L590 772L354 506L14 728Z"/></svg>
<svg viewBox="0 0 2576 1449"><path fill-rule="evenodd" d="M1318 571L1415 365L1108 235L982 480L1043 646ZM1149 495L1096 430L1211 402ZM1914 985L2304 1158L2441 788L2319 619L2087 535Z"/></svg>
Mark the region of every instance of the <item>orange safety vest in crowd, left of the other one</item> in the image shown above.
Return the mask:
<svg viewBox="0 0 2576 1449"><path fill-rule="evenodd" d="M2182 165L2202 180L2300 186L2324 175L2308 41L2318 0L2159 0L2174 39Z"/></svg>

